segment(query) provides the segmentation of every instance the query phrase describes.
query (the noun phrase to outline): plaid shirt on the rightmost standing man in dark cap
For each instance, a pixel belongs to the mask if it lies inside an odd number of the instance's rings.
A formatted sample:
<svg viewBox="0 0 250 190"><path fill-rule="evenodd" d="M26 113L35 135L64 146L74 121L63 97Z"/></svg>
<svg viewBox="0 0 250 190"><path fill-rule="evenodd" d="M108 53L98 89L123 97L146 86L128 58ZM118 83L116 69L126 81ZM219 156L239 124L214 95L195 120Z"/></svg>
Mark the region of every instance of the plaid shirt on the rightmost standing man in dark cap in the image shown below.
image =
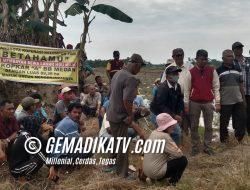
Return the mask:
<svg viewBox="0 0 250 190"><path fill-rule="evenodd" d="M242 70L243 85L246 95L250 95L250 58L243 57L242 60L234 60Z"/></svg>

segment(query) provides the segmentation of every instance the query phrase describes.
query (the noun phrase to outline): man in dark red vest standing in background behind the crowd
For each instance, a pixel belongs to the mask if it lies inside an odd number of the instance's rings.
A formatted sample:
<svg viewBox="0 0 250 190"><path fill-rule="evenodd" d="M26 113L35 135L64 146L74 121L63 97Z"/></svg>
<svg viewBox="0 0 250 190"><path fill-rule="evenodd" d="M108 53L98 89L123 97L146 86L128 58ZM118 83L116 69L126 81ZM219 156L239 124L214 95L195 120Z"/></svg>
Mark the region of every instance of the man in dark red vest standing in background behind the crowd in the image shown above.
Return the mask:
<svg viewBox="0 0 250 190"><path fill-rule="evenodd" d="M107 64L107 76L109 78L109 81L113 78L115 73L123 68L123 61L119 60L120 59L120 52L119 51L114 51L113 52L113 57L114 59L109 61Z"/></svg>

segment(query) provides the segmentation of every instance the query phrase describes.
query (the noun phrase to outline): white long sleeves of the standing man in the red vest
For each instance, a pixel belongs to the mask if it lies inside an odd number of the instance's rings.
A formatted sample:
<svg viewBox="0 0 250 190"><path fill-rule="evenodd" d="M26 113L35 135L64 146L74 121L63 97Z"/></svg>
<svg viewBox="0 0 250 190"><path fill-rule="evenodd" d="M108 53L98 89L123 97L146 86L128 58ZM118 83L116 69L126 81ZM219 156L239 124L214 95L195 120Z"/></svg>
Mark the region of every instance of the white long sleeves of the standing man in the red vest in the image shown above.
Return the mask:
<svg viewBox="0 0 250 190"><path fill-rule="evenodd" d="M190 93L192 89L192 76L191 73L188 72L186 75L186 80L185 80L185 85L184 85L184 103L185 105L189 104L190 101ZM220 80L219 76L214 70L213 72L213 81L212 81L212 92L214 95L215 103L219 104L220 103Z"/></svg>

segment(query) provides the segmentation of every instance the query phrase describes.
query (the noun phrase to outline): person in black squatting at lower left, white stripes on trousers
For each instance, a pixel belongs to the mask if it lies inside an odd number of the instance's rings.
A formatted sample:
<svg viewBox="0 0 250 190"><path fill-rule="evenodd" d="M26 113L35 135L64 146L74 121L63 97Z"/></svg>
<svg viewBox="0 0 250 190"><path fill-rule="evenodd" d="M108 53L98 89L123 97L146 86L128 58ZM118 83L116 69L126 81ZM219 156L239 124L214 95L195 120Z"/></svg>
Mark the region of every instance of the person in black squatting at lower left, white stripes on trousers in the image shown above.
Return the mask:
<svg viewBox="0 0 250 190"><path fill-rule="evenodd" d="M43 150L45 147L44 141L38 135L39 125L34 116L26 116L22 118L22 126L14 142L10 144L8 149L8 164L11 175L19 180L25 182L29 180L38 170L46 163ZM24 144L30 137L37 137L42 141L42 151L37 154L29 154ZM34 145L35 149L37 146ZM34 152L36 150L33 150ZM58 180L57 172L54 166L49 167L49 179L53 181Z"/></svg>

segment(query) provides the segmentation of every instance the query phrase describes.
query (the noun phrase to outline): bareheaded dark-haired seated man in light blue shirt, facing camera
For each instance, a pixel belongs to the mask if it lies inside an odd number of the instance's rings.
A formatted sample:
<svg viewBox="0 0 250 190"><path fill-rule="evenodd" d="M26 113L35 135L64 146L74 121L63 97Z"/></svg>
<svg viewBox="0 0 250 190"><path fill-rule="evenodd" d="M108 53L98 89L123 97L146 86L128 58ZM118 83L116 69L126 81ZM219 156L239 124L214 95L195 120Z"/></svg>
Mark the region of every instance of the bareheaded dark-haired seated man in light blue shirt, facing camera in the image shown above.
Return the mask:
<svg viewBox="0 0 250 190"><path fill-rule="evenodd" d="M82 105L80 103L70 103L68 106L68 115L58 123L54 130L54 136L56 138L58 137L67 137L67 138L73 138L73 137L81 137L81 131L83 129L83 126L81 125L81 114L82 114ZM62 142L63 144L63 142ZM60 147L62 148L62 147ZM60 152L60 151L59 151ZM51 154L51 157L72 157L72 158L89 158L92 156L92 153L86 153L86 154L70 154L65 155L64 153L53 153Z"/></svg>

